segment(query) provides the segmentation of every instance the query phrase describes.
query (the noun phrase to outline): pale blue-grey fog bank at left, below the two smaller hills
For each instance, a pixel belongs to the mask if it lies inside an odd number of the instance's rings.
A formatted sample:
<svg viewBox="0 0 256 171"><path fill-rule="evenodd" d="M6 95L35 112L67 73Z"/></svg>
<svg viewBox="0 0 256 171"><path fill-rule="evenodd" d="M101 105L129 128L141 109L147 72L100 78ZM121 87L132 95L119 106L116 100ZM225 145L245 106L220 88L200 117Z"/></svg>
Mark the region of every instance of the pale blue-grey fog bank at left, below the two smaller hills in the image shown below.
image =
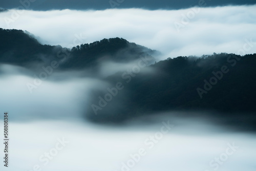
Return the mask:
<svg viewBox="0 0 256 171"><path fill-rule="evenodd" d="M40 80L22 67L0 65L0 73L0 108L12 113L12 121L83 117L90 90L105 86L78 72L55 72Z"/></svg>

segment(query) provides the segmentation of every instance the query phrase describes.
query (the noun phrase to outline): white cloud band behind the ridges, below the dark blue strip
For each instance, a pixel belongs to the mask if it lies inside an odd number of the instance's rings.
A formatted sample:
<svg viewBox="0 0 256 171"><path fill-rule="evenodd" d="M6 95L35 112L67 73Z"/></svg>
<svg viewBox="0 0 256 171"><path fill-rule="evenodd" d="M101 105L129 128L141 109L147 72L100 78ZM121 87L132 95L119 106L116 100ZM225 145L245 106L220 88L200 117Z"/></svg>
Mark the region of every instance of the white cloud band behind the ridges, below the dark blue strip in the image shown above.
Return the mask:
<svg viewBox="0 0 256 171"><path fill-rule="evenodd" d="M27 30L42 44L63 47L122 37L163 58L213 52L255 53L256 6L183 10L20 11L0 13L0 27ZM250 42L250 44L248 44ZM245 46L245 44L247 44Z"/></svg>

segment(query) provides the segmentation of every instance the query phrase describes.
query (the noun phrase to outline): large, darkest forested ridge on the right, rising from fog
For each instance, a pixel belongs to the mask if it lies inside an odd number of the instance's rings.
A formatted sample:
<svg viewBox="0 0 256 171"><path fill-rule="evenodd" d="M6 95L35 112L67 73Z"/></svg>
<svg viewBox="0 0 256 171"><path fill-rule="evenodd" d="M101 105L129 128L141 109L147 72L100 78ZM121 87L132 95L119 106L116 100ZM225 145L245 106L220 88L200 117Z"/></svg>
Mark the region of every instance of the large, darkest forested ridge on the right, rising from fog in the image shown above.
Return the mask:
<svg viewBox="0 0 256 171"><path fill-rule="evenodd" d="M120 72L107 80L113 88L121 82L124 89L103 108L98 97L104 100L109 91L94 92L91 104L100 108L88 106L88 117L119 122L166 110L256 113L255 66L256 54L221 53L169 58L145 68L154 72L147 74L142 70L129 83Z"/></svg>

